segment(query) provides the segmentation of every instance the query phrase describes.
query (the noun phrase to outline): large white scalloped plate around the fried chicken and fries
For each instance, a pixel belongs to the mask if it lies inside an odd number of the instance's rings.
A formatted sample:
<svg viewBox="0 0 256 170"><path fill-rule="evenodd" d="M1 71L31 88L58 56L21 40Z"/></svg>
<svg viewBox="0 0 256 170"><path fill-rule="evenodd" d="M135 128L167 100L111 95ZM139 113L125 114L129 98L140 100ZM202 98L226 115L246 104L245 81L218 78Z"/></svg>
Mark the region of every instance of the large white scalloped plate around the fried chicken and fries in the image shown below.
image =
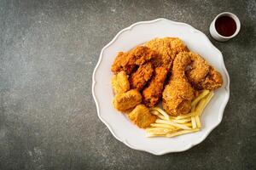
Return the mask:
<svg viewBox="0 0 256 170"><path fill-rule="evenodd" d="M113 59L119 51L128 51L138 44L154 37L179 37L188 48L201 54L223 76L224 85L215 90L206 110L201 116L200 132L184 134L175 138L146 138L145 131L133 125L123 114L113 108L113 91L110 71ZM224 59L207 36L194 27L172 20L157 19L137 22L119 33L102 48L100 59L92 76L92 94L99 118L116 139L135 150L144 150L154 155L188 150L207 138L222 120L225 105L230 97L230 77L224 66Z"/></svg>

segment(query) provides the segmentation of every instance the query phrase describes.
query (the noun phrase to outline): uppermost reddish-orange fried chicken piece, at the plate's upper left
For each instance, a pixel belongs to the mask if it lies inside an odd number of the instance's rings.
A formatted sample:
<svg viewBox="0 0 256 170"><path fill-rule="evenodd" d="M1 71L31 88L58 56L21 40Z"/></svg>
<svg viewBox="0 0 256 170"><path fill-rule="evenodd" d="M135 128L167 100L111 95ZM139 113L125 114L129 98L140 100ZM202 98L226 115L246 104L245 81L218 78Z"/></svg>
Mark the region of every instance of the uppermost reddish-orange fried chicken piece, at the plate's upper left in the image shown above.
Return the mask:
<svg viewBox="0 0 256 170"><path fill-rule="evenodd" d="M155 55L154 50L144 46L138 46L127 53L119 52L113 61L111 71L114 74L117 74L119 71L125 71L127 75L130 75L131 72L136 70L137 65L143 65L148 60L154 58Z"/></svg>

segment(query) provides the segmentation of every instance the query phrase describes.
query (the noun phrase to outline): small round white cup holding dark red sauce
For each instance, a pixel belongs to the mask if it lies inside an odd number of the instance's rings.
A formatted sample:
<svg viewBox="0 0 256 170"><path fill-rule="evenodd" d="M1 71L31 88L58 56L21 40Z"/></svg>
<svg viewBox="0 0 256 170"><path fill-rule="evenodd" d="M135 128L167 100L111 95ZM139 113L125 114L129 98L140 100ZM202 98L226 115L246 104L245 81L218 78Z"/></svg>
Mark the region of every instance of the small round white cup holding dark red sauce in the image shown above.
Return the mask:
<svg viewBox="0 0 256 170"><path fill-rule="evenodd" d="M218 33L218 31L216 30L216 28L215 28L215 22L221 16L229 16L230 18L232 18L236 22L236 32L232 36L230 36L230 37L224 37L224 36L220 35ZM215 17L215 19L212 20L212 23L211 23L211 26L210 26L210 33L211 33L212 37L215 40L217 40L219 42L226 42L226 41L230 40L231 38L236 37L236 35L240 31L240 28L241 28L241 23L240 23L240 20L238 19L238 17L236 16L236 14L232 14L230 12L224 12L224 13L218 14Z"/></svg>

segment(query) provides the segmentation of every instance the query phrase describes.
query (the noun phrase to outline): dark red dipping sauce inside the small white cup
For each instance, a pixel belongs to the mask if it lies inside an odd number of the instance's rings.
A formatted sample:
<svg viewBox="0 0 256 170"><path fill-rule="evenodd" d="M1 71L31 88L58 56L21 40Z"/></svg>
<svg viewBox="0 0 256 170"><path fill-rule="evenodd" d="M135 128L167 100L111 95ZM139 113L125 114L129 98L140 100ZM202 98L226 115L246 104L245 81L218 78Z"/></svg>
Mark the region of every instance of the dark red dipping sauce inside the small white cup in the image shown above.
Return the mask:
<svg viewBox="0 0 256 170"><path fill-rule="evenodd" d="M215 22L218 33L224 37L230 37L236 32L236 21L229 16L221 16Z"/></svg>

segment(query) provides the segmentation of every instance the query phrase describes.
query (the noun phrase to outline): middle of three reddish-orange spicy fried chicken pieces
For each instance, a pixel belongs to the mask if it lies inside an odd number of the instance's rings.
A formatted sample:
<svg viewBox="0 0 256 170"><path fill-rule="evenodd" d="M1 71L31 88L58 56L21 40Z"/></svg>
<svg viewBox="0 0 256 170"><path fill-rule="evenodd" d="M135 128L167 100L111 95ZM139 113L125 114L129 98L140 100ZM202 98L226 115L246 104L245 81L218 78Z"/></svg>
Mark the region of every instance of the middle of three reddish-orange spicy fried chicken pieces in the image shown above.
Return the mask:
<svg viewBox="0 0 256 170"><path fill-rule="evenodd" d="M132 73L129 78L131 88L136 88L138 91L142 90L152 76L153 71L153 66L150 62L139 66L137 71Z"/></svg>

